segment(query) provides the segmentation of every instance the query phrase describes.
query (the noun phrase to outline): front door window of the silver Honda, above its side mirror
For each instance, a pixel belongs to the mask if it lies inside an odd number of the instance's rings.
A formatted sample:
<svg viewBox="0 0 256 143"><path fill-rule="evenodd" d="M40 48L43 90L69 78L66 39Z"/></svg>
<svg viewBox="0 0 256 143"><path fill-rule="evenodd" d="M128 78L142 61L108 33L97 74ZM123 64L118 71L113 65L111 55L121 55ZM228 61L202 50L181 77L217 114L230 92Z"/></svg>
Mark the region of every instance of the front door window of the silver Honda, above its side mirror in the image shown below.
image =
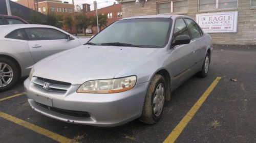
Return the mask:
<svg viewBox="0 0 256 143"><path fill-rule="evenodd" d="M174 38L177 36L189 36L187 26L182 18L177 19L174 27Z"/></svg>

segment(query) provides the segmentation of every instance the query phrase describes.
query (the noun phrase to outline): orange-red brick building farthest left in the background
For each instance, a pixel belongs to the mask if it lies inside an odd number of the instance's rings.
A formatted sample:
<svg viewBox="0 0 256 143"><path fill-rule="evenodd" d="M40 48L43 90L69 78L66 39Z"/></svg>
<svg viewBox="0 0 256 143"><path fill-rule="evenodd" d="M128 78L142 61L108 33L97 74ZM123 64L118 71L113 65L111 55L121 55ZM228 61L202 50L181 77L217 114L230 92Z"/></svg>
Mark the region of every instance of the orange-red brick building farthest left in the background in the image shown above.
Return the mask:
<svg viewBox="0 0 256 143"><path fill-rule="evenodd" d="M74 5L69 3L62 3L58 0L18 0L16 3L28 7L33 10L38 10L42 14L47 14L49 11L56 15L73 15Z"/></svg>

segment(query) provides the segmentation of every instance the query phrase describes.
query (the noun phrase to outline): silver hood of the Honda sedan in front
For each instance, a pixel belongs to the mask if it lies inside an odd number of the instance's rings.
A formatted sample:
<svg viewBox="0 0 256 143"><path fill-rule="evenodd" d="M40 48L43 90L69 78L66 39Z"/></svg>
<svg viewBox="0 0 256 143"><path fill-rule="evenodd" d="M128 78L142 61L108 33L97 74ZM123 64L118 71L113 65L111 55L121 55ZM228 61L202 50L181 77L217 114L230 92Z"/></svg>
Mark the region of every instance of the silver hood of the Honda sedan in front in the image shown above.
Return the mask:
<svg viewBox="0 0 256 143"><path fill-rule="evenodd" d="M34 65L33 76L70 82L73 85L89 80L117 78L115 75L120 71L143 60L155 50L157 49L79 46L41 60Z"/></svg>

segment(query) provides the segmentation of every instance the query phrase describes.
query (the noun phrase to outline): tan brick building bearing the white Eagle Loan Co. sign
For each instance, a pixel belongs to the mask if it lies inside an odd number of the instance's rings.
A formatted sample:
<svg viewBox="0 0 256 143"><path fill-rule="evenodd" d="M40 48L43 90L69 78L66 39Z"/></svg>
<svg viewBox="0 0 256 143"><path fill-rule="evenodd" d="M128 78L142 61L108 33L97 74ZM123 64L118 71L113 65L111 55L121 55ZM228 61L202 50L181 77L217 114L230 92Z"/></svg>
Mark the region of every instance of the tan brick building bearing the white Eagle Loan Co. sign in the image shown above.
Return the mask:
<svg viewBox="0 0 256 143"><path fill-rule="evenodd" d="M208 21L208 26L212 23L233 21L231 23L231 26L233 26L232 32L225 30L218 33L211 32L212 41L215 44L256 44L256 0L139 0L137 5L135 0L118 0L118 2L122 4L123 17L182 14L194 18L199 24L202 24L200 20L209 19L211 21ZM196 18L200 14L204 17ZM211 15L217 16L209 17ZM219 27L217 25L204 28ZM223 28L228 27L224 26Z"/></svg>

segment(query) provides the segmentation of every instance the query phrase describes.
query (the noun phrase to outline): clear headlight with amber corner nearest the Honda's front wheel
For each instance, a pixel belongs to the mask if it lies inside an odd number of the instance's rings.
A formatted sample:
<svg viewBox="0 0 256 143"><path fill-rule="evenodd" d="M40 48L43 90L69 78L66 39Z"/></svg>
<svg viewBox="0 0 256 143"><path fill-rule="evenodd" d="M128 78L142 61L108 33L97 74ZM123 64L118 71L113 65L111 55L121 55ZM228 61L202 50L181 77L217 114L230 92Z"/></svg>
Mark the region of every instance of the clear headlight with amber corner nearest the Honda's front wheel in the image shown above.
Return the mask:
<svg viewBox="0 0 256 143"><path fill-rule="evenodd" d="M78 93L119 93L134 88L137 77L123 77L116 79L92 80L81 85Z"/></svg>

